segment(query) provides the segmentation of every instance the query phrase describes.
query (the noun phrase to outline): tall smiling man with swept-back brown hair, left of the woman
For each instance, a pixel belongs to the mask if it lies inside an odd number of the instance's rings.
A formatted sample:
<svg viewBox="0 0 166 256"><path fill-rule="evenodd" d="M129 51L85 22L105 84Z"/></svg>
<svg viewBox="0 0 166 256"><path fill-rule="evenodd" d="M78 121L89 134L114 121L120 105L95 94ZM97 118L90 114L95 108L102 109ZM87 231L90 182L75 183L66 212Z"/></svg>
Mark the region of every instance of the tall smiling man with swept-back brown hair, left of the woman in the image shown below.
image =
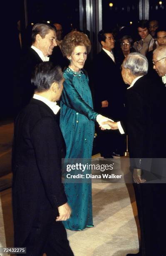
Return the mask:
<svg viewBox="0 0 166 256"><path fill-rule="evenodd" d="M15 115L30 102L34 88L30 82L35 65L49 61L56 43L55 29L49 24L37 23L32 28L32 46L22 51L14 77Z"/></svg>

